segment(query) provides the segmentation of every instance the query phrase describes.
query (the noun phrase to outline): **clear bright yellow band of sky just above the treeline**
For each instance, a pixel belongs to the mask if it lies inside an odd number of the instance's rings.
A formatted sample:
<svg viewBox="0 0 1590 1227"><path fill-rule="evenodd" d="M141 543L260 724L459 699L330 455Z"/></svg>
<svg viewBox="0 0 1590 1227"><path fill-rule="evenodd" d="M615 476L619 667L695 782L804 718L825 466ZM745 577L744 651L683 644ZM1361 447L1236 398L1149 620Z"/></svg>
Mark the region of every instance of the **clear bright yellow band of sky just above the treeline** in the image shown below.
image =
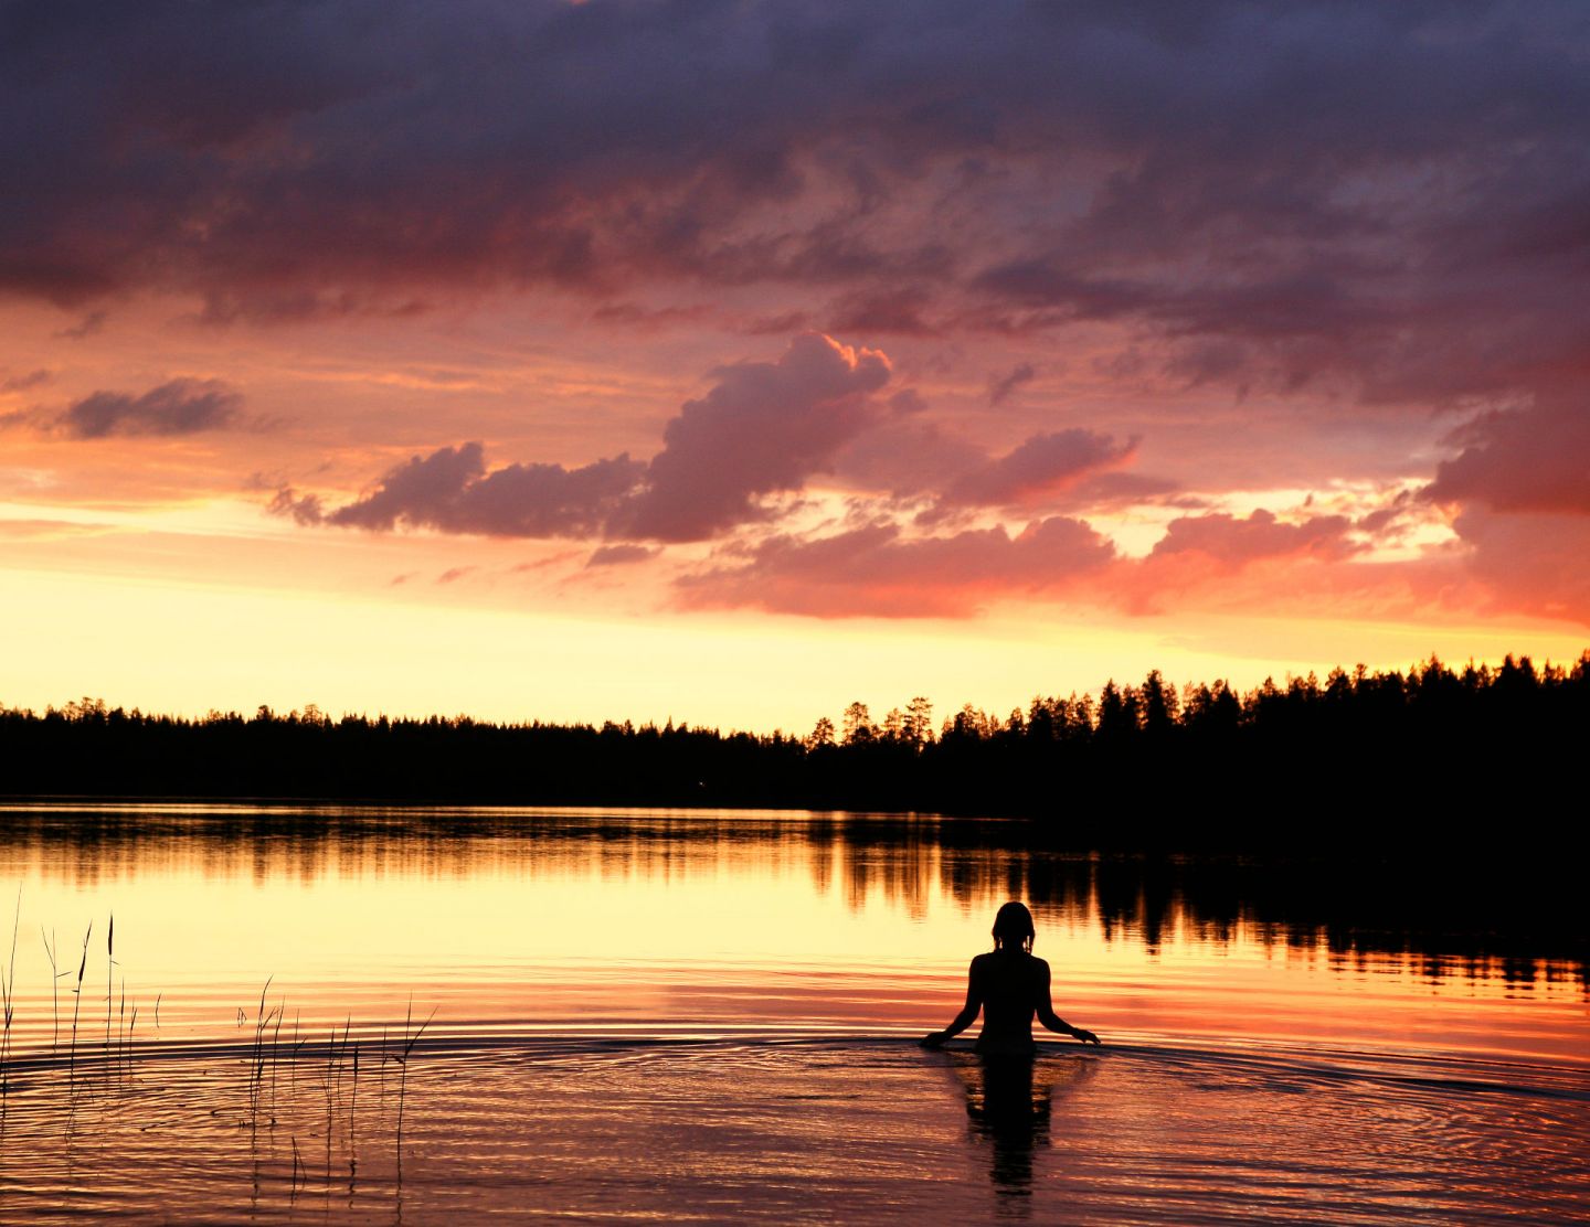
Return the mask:
<svg viewBox="0 0 1590 1227"><path fill-rule="evenodd" d="M1035 693L1097 691L1161 669L1173 683L1461 663L1507 652L1574 660L1563 626L1110 618L1010 609L986 618L843 620L746 614L472 607L434 585L413 598L0 572L0 703L81 696L199 715L315 703L331 714L487 720L673 718L806 733L852 699L881 717L913 695L938 717L964 703L1005 715Z"/></svg>

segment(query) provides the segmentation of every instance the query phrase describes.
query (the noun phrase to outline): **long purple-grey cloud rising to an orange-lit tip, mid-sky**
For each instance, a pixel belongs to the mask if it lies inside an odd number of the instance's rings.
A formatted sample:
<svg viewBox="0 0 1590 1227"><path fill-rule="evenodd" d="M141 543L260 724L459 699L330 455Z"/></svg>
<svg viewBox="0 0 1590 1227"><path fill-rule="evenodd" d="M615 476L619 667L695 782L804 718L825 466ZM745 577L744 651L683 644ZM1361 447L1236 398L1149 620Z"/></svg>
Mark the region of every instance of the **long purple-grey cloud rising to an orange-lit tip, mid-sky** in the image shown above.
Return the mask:
<svg viewBox="0 0 1590 1227"><path fill-rule="evenodd" d="M361 499L324 510L281 490L273 515L299 523L391 531L399 524L502 537L708 540L768 518L763 496L798 491L863 431L914 412L881 397L889 359L820 334L795 337L776 362L722 367L663 429L650 463L628 455L577 469L487 469L479 442L444 447L391 469Z"/></svg>

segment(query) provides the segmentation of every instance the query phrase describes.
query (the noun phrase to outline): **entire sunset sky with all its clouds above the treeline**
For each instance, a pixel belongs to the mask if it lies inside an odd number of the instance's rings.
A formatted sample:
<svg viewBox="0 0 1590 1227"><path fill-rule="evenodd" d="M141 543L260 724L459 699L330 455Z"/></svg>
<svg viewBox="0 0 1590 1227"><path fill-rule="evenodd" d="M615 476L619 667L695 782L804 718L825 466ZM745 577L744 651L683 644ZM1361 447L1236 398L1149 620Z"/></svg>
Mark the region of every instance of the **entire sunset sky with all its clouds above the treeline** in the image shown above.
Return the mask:
<svg viewBox="0 0 1590 1227"><path fill-rule="evenodd" d="M1590 5L0 2L0 703L1590 644Z"/></svg>

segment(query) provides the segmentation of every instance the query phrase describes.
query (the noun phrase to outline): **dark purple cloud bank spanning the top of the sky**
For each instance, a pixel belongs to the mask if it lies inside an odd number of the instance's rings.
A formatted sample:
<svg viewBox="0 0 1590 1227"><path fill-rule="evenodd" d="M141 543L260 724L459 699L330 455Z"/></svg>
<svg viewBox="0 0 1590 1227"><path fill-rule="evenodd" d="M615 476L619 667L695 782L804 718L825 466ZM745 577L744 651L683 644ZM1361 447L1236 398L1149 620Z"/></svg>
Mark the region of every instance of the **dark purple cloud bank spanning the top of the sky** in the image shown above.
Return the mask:
<svg viewBox="0 0 1590 1227"><path fill-rule="evenodd" d="M1587 48L1577 0L17 0L0 288L800 283L865 332L1121 321L1191 380L1542 391L1584 370Z"/></svg>

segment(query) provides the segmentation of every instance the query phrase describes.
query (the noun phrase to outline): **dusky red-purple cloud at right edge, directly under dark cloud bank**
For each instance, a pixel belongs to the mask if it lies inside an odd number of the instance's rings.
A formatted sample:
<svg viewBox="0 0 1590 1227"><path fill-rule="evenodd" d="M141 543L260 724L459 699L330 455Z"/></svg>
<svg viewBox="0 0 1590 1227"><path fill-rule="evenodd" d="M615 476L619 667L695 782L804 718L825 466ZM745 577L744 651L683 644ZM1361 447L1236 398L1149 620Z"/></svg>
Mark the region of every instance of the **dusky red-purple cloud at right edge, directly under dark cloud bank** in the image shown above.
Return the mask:
<svg viewBox="0 0 1590 1227"><path fill-rule="evenodd" d="M1582 393L1485 413L1448 442L1463 450L1436 466L1426 499L1590 515L1590 401Z"/></svg>

